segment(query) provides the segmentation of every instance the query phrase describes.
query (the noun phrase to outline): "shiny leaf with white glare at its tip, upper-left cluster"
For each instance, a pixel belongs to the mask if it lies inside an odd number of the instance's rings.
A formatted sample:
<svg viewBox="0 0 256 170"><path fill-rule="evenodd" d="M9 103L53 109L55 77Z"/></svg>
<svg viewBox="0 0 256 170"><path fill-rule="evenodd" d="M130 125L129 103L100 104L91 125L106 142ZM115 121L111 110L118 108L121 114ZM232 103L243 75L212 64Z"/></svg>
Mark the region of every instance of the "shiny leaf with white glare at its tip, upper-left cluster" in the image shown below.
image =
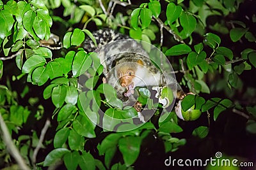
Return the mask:
<svg viewBox="0 0 256 170"><path fill-rule="evenodd" d="M38 16L35 17L33 29L36 32L36 35L40 39L44 39L46 34L46 24L41 17L38 17Z"/></svg>

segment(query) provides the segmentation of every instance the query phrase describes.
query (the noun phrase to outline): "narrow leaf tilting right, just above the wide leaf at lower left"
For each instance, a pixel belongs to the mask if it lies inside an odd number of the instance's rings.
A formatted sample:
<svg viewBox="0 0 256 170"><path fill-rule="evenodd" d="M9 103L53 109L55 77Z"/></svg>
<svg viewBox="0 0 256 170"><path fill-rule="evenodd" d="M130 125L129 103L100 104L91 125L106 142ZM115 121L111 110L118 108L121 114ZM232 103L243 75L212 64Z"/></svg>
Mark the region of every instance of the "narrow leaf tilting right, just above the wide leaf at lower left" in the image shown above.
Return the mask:
<svg viewBox="0 0 256 170"><path fill-rule="evenodd" d="M70 129L68 127L64 127L60 129L60 131L56 132L53 140L54 148L61 148L64 143L66 143L68 139Z"/></svg>

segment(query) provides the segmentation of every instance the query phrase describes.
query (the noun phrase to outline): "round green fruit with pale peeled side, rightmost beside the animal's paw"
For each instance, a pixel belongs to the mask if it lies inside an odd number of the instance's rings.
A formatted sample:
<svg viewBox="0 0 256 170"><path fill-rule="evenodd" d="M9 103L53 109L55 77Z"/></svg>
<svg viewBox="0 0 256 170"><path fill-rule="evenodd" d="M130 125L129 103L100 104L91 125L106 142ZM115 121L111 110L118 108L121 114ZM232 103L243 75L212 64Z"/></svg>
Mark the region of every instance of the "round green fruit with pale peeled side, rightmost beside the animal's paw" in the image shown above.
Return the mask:
<svg viewBox="0 0 256 170"><path fill-rule="evenodd" d="M200 110L195 110L195 105L193 105L187 111L182 110L181 100L179 101L179 103L175 107L175 112L176 112L176 115L180 119L186 120L186 121L196 120L196 119L198 119L200 117L200 115L202 113Z"/></svg>

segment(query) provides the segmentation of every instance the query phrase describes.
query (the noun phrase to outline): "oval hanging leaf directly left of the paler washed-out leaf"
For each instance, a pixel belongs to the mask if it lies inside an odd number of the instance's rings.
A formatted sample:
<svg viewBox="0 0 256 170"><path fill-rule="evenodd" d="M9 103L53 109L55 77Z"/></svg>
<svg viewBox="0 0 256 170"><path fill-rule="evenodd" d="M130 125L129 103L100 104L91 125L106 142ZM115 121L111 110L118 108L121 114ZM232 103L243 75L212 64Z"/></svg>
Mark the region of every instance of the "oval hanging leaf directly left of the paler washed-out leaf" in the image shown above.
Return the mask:
<svg viewBox="0 0 256 170"><path fill-rule="evenodd" d="M58 85L52 89L52 103L56 108L60 108L67 94L67 87L65 85Z"/></svg>

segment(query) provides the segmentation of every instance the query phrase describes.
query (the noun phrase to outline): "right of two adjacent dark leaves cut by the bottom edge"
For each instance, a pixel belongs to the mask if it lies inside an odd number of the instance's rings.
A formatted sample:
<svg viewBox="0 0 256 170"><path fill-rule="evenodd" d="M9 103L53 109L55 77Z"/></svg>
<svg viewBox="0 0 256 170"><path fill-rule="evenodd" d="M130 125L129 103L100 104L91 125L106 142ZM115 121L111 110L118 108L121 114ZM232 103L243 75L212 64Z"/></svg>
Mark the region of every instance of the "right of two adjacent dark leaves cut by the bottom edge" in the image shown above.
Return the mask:
<svg viewBox="0 0 256 170"><path fill-rule="evenodd" d="M90 153L82 152L81 159L79 159L79 166L81 169L94 170L95 161Z"/></svg>

